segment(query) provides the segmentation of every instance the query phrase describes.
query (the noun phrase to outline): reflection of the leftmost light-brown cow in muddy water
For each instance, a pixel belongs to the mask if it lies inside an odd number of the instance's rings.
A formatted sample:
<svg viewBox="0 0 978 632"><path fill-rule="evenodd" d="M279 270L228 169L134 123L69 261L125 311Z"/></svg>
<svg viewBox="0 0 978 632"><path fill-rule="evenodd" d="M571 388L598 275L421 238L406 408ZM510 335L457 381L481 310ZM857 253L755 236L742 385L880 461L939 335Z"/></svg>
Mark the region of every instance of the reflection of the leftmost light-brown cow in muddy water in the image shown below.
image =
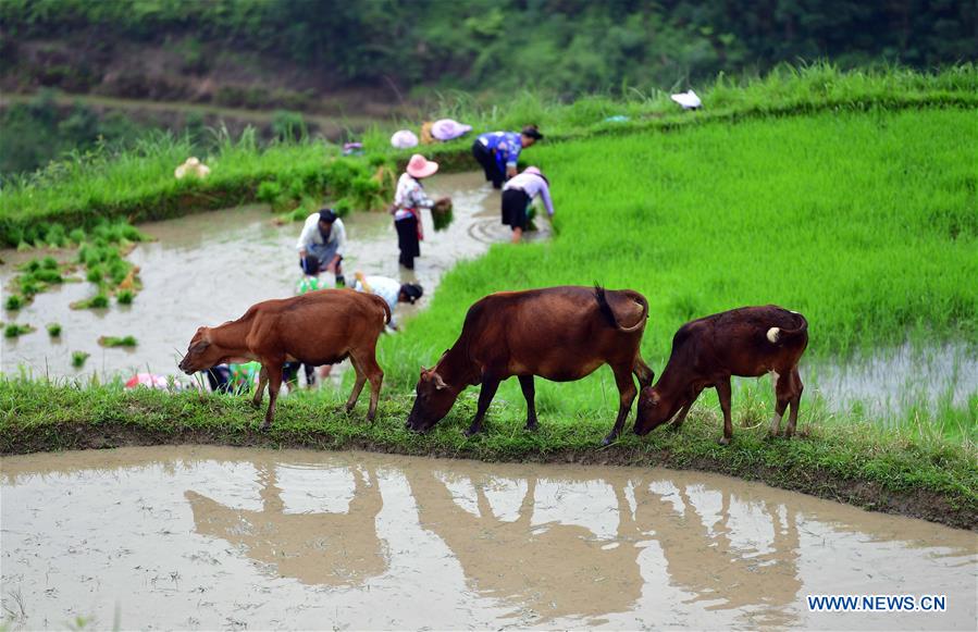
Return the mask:
<svg viewBox="0 0 978 632"><path fill-rule="evenodd" d="M259 511L235 509L193 491L184 496L197 533L244 547L251 559L304 584L356 586L387 570L375 520L383 506L373 471L352 470L356 490L346 513L285 513L274 466L259 468Z"/></svg>

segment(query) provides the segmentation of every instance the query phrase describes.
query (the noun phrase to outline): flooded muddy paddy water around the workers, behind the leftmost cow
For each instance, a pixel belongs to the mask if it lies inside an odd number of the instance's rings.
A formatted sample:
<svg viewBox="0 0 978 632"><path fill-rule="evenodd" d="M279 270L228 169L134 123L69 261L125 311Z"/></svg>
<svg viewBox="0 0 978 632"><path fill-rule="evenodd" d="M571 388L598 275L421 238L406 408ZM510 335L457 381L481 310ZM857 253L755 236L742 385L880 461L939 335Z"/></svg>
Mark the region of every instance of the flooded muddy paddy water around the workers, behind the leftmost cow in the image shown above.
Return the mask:
<svg viewBox="0 0 978 632"><path fill-rule="evenodd" d="M423 213L425 238L416 272L397 264L397 235L387 213L352 213L347 228L345 271L383 274L401 282L418 282L430 294L442 275L459 260L481 255L508 231L499 222L499 196L479 174L449 174L431 178L433 196L449 195L455 221L435 232ZM106 310L71 310L69 305L94 294L89 283L71 283L38 295L18 313L5 312L7 322L30 323L37 332L3 339L0 369L14 373L24 367L35 375L131 375L134 372L178 374L176 362L194 332L202 324L236 319L255 302L292 296L300 270L295 243L301 224L276 226L267 207L215 211L139 226L154 241L140 244L128 257L140 267L144 290L129 306ZM546 235L546 222L534 238ZM63 253L63 258L73 253ZM4 251L0 284L5 288L18 261L34 256ZM331 275L330 275L331 276ZM332 278L331 278L332 281ZM422 299L418 307L423 307ZM410 306L398 306L398 318ZM52 340L45 325L63 325ZM133 335L138 347L103 349L101 335ZM82 371L71 365L72 351L91 354Z"/></svg>

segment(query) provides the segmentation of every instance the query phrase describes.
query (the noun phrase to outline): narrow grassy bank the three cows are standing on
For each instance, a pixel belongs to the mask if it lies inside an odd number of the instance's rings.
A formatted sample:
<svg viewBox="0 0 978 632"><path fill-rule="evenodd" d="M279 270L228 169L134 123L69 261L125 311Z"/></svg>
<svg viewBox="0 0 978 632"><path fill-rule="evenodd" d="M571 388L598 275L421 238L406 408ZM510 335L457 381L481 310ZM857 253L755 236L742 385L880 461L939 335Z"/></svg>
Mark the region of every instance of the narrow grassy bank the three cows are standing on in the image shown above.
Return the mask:
<svg viewBox="0 0 978 632"><path fill-rule="evenodd" d="M978 524L978 461L974 450L948 444L894 441L864 429L824 430L816 423L802 441L767 441L764 427L735 430L719 446L716 414L691 413L681 433L626 435L598 448L611 413L584 412L543 419L522 430L521 406L493 405L486 433L466 438L474 393L463 396L432 433L404 427L408 402L382 400L373 424L366 401L344 414L344 394L290 395L268 433L246 396L165 393L119 387L77 388L45 382L0 380L0 454L159 443L219 443L319 449L367 448L487 461L557 461L695 468L762 480L858 506L926 518L953 526Z"/></svg>

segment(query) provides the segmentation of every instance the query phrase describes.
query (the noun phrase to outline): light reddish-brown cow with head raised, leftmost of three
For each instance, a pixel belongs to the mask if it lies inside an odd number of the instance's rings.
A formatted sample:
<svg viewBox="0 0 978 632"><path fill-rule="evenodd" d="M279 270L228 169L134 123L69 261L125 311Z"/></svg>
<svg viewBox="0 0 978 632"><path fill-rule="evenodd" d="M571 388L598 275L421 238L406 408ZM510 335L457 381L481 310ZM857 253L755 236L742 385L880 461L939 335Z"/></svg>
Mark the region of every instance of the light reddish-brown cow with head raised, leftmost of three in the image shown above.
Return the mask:
<svg viewBox="0 0 978 632"><path fill-rule="evenodd" d="M335 364L349 357L357 382L346 410L352 410L363 383L370 380L367 420L373 421L384 380L376 363L376 339L388 322L391 308L384 299L352 289L321 289L267 300L248 308L236 321L197 330L179 368L193 374L222 362L260 362L261 374L251 402L256 408L261 406L268 384L269 409L261 426L267 430L275 416L282 364Z"/></svg>

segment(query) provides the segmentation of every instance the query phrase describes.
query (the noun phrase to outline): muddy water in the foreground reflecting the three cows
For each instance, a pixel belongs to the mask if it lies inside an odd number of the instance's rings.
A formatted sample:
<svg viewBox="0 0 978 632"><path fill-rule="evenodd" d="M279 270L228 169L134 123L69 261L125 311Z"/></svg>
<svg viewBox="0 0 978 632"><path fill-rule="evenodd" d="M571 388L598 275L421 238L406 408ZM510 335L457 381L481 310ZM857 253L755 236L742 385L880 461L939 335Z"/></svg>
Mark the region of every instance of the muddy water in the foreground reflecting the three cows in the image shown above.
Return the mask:
<svg viewBox="0 0 978 632"><path fill-rule="evenodd" d="M975 629L975 533L722 476L201 446L0 464L28 629Z"/></svg>

